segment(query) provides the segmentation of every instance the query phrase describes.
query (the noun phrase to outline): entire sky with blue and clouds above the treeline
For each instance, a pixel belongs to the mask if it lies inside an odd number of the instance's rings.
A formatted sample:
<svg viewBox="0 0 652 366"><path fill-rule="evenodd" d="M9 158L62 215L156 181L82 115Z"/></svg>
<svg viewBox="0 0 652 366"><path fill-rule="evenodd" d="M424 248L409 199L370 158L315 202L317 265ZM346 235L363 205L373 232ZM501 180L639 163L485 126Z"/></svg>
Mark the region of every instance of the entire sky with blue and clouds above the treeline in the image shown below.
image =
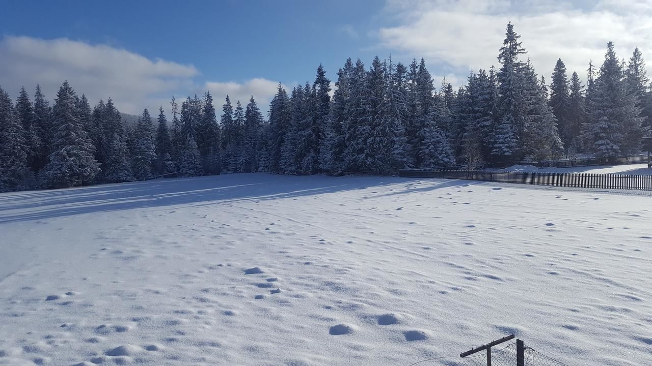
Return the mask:
<svg viewBox="0 0 652 366"><path fill-rule="evenodd" d="M336 78L347 57L368 64L424 57L435 84L462 85L496 64L507 21L537 72L557 57L585 74L614 40L622 57L652 54L645 0L16 1L0 13L0 86L15 96L40 83L50 100L64 79L92 103L111 96L128 113L210 90L263 110L276 83ZM649 52L647 52L649 51Z"/></svg>

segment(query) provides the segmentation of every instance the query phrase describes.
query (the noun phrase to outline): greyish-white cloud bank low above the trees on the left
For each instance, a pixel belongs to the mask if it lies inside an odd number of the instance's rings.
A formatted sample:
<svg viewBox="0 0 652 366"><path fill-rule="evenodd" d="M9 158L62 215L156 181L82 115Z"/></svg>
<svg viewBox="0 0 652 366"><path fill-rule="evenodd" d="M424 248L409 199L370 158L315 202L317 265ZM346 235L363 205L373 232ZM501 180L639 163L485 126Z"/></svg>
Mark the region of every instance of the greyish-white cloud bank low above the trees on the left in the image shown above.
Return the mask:
<svg viewBox="0 0 652 366"><path fill-rule="evenodd" d="M243 105L253 94L266 115L278 84L263 78L243 83L198 82L200 72L192 65L147 59L125 49L67 38L5 36L0 39L0 65L0 86L12 96L22 85L33 94L38 83L52 103L67 79L79 94L86 94L91 106L110 96L121 111L135 115L144 108L155 115L158 106L169 111L172 95L181 104L188 94L207 90L213 93L218 113L227 93L233 104L240 99Z"/></svg>

